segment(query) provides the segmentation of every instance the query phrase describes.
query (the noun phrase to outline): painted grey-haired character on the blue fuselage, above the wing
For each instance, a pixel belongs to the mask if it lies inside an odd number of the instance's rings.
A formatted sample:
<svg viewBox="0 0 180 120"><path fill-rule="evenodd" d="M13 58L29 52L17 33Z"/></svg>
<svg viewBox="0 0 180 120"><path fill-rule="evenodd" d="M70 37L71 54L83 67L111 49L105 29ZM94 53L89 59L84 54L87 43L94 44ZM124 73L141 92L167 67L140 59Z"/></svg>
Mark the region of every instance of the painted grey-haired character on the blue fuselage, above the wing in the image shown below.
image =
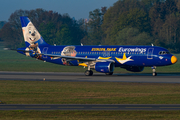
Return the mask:
<svg viewBox="0 0 180 120"><path fill-rule="evenodd" d="M75 57L76 54L77 54L77 52L75 50L75 46L67 46L61 52L62 56L72 56L72 57ZM65 59L65 58L62 58L62 62L63 62L64 65L69 65L69 63L67 62L67 59Z"/></svg>

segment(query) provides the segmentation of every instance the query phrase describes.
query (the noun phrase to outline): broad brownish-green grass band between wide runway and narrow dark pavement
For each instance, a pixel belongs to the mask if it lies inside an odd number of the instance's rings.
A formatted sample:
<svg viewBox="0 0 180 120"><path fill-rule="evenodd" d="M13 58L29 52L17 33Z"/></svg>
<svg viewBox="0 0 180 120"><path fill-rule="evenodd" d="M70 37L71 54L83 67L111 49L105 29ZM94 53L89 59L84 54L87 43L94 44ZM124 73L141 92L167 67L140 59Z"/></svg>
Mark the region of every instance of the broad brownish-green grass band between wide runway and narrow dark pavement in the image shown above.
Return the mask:
<svg viewBox="0 0 180 120"><path fill-rule="evenodd" d="M6 104L180 104L180 84L0 81Z"/></svg>

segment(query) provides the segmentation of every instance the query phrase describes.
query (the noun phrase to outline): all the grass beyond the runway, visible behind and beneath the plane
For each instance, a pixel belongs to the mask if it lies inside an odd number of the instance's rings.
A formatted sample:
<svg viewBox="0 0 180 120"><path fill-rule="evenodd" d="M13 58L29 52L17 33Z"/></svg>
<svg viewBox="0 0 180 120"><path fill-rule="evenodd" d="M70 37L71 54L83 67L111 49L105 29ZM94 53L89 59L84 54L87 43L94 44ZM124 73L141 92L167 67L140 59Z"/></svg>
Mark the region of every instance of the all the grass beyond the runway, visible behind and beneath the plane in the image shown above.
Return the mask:
<svg viewBox="0 0 180 120"><path fill-rule="evenodd" d="M180 54L176 54L180 60ZM62 66L53 63L44 63L31 57L26 57L16 51L0 49L0 71L24 71L24 72L84 72L82 66ZM180 73L180 61L174 65L157 67L158 73ZM95 70L94 70L95 72ZM115 73L130 73L122 68L115 68ZM152 73L152 69L147 67L143 73Z"/></svg>

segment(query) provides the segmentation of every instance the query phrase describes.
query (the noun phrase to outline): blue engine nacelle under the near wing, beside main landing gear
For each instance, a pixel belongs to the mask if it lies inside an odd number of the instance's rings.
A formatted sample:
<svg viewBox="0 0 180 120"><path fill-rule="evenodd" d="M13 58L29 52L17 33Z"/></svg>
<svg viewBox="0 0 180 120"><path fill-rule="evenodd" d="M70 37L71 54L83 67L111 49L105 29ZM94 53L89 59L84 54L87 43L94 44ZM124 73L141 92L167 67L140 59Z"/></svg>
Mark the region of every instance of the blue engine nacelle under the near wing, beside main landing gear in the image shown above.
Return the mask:
<svg viewBox="0 0 180 120"><path fill-rule="evenodd" d="M114 71L113 62L97 62L95 65L95 70L102 73L110 73Z"/></svg>

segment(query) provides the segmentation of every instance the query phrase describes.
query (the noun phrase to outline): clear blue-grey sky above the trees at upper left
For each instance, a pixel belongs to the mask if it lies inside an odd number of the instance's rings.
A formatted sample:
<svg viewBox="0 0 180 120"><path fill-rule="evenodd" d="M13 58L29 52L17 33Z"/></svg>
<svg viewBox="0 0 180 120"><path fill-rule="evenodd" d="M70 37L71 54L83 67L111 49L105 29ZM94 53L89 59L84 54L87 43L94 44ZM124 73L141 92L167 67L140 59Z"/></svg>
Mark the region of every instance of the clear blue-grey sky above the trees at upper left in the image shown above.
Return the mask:
<svg viewBox="0 0 180 120"><path fill-rule="evenodd" d="M0 0L0 21L8 21L16 10L42 8L59 14L68 13L76 20L89 18L89 12L101 7L113 6L118 0Z"/></svg>

